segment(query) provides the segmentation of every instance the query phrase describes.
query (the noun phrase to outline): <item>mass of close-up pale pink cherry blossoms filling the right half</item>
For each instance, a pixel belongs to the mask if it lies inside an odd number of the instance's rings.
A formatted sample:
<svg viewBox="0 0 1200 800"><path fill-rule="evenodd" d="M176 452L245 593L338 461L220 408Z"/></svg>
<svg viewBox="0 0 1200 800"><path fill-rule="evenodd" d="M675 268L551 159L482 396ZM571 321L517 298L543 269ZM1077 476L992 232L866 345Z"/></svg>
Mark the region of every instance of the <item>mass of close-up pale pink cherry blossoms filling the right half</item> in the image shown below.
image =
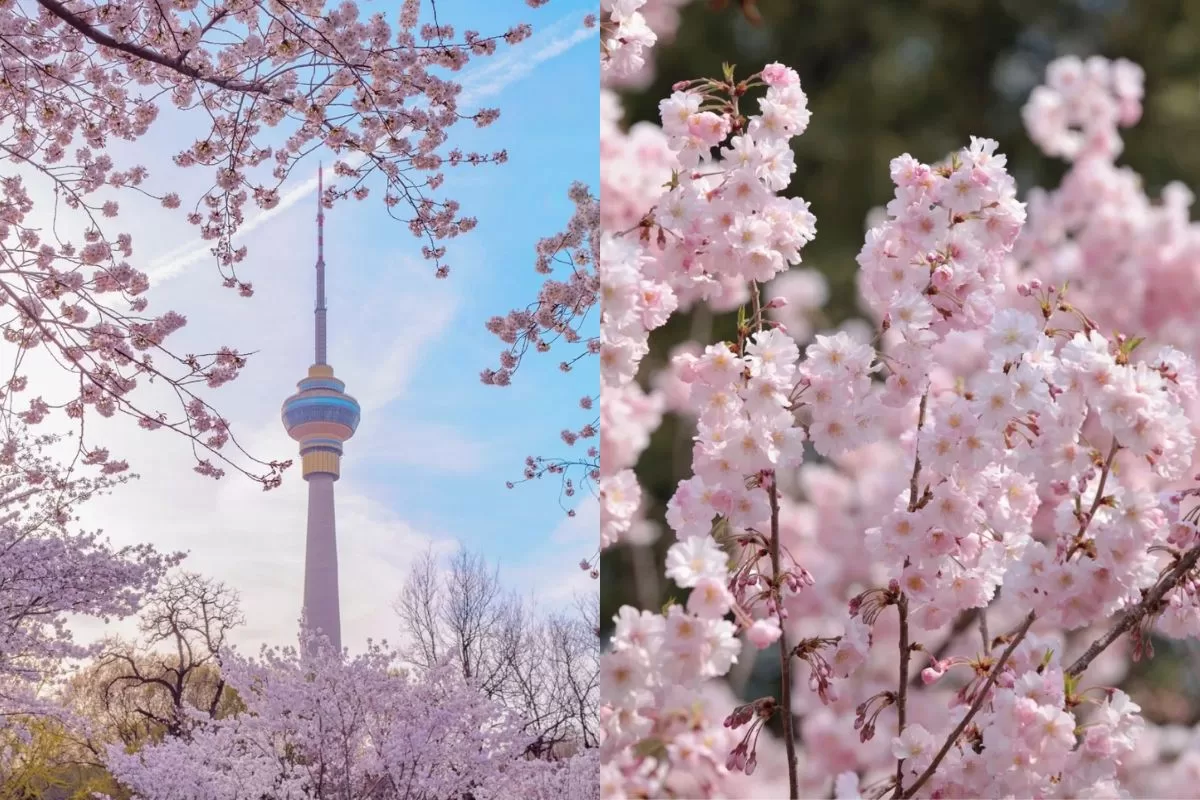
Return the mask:
<svg viewBox="0 0 1200 800"><path fill-rule="evenodd" d="M695 437L662 521L684 599L622 608L602 656L604 796L1194 793L1194 740L1116 688L1152 636L1200 632L1196 240L1189 193L1156 204L1115 166L1142 80L1051 65L1026 125L1072 163L1027 204L996 142L894 158L866 336L782 321L821 294L788 272L815 217L781 196L800 76L726 67L677 83L660 128L608 128L602 173L647 178L601 209L602 547L654 522L635 468L659 415ZM701 303L736 336L648 392L652 330ZM758 651L774 696L712 685Z"/></svg>

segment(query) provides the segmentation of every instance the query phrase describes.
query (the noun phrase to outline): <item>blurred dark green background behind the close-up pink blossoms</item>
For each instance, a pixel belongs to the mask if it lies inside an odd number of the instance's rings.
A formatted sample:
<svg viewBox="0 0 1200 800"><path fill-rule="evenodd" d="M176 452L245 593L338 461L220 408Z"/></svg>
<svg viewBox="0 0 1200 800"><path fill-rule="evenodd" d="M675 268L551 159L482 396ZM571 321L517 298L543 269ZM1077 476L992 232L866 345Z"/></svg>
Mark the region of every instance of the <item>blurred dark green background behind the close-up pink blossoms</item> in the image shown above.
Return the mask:
<svg viewBox="0 0 1200 800"><path fill-rule="evenodd" d="M761 24L750 23L739 2L728 5L715 10L695 0L682 10L673 42L655 48L655 80L646 90L620 92L625 124L658 122L658 103L674 82L720 77L722 62L737 65L740 77L772 61L796 68L812 121L793 142L791 192L809 200L817 217L817 237L805 247L804 261L829 282L829 325L858 313L854 257L868 211L892 197L893 157L910 152L938 161L970 136L989 137L1008 156L1022 197L1032 186L1057 185L1064 166L1038 152L1020 116L1057 56L1103 55L1141 65L1145 112L1124 131L1120 163L1142 175L1152 197L1171 180L1196 190L1200 0L758 0ZM676 317L655 331L643 377L697 326L707 331L712 325L714 337L732 336L731 319L694 317ZM689 475L690 437L690 426L668 416L638 463L652 519L662 518L676 483ZM667 600L670 584L650 585L635 576L661 575L671 542L664 530L653 548L604 554L605 636L622 604L658 608ZM1195 680L1198 672L1183 674Z"/></svg>

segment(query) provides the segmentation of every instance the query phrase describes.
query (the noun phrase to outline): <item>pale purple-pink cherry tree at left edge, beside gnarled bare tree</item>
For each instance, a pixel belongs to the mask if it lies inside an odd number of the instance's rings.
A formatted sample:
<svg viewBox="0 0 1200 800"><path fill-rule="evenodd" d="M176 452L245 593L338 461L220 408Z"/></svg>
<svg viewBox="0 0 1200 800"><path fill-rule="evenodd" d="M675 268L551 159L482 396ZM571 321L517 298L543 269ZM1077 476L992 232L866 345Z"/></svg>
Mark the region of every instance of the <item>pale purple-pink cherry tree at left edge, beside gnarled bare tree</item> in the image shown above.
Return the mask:
<svg viewBox="0 0 1200 800"><path fill-rule="evenodd" d="M70 622L134 614L181 559L79 530L79 505L130 475L95 459L62 464L61 450L16 420L0 445L0 786L12 796L72 776L106 786L78 715L60 702L73 664L101 649L80 644Z"/></svg>

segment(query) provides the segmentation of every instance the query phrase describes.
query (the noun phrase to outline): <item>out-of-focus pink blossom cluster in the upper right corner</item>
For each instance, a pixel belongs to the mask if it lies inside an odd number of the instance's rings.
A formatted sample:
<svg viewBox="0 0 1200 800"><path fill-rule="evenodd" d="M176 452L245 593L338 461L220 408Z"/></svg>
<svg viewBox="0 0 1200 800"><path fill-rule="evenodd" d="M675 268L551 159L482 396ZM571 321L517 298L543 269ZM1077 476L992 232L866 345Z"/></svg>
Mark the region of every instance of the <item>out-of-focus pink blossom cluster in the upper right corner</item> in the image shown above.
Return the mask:
<svg viewBox="0 0 1200 800"><path fill-rule="evenodd" d="M1069 162L1062 184L1028 194L1030 224L1018 242L1022 279L1069 282L1105 330L1138 332L1195 356L1200 225L1194 196L1172 181L1160 200L1141 176L1116 164L1120 128L1141 116L1144 76L1124 60L1066 56L1025 106L1025 126L1043 152Z"/></svg>

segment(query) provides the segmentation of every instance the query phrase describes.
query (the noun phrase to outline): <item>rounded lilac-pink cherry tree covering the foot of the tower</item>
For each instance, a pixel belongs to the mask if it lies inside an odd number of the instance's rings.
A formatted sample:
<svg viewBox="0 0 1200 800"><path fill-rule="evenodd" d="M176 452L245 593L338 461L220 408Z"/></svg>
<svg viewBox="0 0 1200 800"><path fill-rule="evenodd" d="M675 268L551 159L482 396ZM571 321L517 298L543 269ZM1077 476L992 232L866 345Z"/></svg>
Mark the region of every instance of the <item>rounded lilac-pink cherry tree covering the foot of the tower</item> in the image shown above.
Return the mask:
<svg viewBox="0 0 1200 800"><path fill-rule="evenodd" d="M416 680L397 666L380 646L348 661L292 649L229 657L224 675L245 712L198 714L186 736L134 753L114 746L108 766L148 800L499 800L578 781L582 762L526 762L508 712L456 667Z"/></svg>

